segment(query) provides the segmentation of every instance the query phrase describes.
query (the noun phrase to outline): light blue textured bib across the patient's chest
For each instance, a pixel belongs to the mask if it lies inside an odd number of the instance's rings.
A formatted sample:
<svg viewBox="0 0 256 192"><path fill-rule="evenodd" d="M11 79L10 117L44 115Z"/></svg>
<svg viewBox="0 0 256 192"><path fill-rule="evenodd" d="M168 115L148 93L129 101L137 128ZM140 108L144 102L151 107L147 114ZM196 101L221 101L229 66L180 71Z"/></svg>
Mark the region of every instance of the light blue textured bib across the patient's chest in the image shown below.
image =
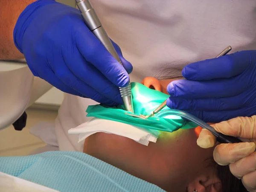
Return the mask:
<svg viewBox="0 0 256 192"><path fill-rule="evenodd" d="M76 151L0 157L0 172L61 192L164 192L158 186Z"/></svg>

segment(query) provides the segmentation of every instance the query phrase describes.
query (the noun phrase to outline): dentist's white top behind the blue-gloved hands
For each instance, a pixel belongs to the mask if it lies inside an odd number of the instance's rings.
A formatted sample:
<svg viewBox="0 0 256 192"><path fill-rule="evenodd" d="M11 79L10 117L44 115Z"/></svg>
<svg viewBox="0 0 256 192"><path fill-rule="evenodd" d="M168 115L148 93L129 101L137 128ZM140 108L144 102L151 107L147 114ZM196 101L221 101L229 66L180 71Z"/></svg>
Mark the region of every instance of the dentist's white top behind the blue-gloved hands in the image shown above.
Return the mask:
<svg viewBox="0 0 256 192"><path fill-rule="evenodd" d="M131 81L181 77L182 68L232 52L256 49L256 0L91 0L110 38L133 65ZM88 120L96 104L66 94L55 122L60 150L81 151L67 131Z"/></svg>

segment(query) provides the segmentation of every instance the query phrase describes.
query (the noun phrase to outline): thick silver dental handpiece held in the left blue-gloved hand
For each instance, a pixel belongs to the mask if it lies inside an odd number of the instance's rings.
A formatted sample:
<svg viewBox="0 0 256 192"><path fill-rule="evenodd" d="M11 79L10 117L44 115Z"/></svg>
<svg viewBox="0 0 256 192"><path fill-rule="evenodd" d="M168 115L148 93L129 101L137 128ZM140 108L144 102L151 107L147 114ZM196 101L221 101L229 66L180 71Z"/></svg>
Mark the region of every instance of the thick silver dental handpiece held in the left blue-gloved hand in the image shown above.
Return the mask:
<svg viewBox="0 0 256 192"><path fill-rule="evenodd" d="M81 12L81 16L84 19L84 23L87 25L90 31L93 32L93 34L99 39L99 41L105 46L111 55L113 55L113 57L116 58L121 65L123 65L108 37L107 32L103 28L99 17L96 15L95 10L91 6L90 1L76 0L76 4ZM119 87L119 91L124 102L125 110L134 113L130 82L127 87Z"/></svg>

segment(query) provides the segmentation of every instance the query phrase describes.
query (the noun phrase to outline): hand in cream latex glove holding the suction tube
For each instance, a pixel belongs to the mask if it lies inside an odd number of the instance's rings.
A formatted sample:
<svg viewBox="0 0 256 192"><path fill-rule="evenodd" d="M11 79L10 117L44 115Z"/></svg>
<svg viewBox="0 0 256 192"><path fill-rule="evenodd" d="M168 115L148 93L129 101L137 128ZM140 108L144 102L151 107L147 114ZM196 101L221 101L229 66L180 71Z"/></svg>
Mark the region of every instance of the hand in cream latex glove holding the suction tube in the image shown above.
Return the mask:
<svg viewBox="0 0 256 192"><path fill-rule="evenodd" d="M242 180L248 191L256 192L256 116L236 117L211 126L222 134L248 140L217 145L213 157L219 165L229 165L231 173ZM215 144L215 137L202 129L197 143L202 148L210 148Z"/></svg>

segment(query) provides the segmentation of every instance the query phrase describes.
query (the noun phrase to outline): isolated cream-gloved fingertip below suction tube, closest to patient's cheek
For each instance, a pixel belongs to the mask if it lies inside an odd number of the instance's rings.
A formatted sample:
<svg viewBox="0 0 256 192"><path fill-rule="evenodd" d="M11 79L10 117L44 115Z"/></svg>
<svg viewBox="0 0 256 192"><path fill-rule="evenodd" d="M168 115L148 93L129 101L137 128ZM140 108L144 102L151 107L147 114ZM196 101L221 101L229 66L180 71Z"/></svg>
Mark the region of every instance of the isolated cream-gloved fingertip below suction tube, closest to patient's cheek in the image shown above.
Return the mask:
<svg viewBox="0 0 256 192"><path fill-rule="evenodd" d="M216 137L207 129L202 129L199 134L197 144L201 148L211 148L216 143Z"/></svg>

